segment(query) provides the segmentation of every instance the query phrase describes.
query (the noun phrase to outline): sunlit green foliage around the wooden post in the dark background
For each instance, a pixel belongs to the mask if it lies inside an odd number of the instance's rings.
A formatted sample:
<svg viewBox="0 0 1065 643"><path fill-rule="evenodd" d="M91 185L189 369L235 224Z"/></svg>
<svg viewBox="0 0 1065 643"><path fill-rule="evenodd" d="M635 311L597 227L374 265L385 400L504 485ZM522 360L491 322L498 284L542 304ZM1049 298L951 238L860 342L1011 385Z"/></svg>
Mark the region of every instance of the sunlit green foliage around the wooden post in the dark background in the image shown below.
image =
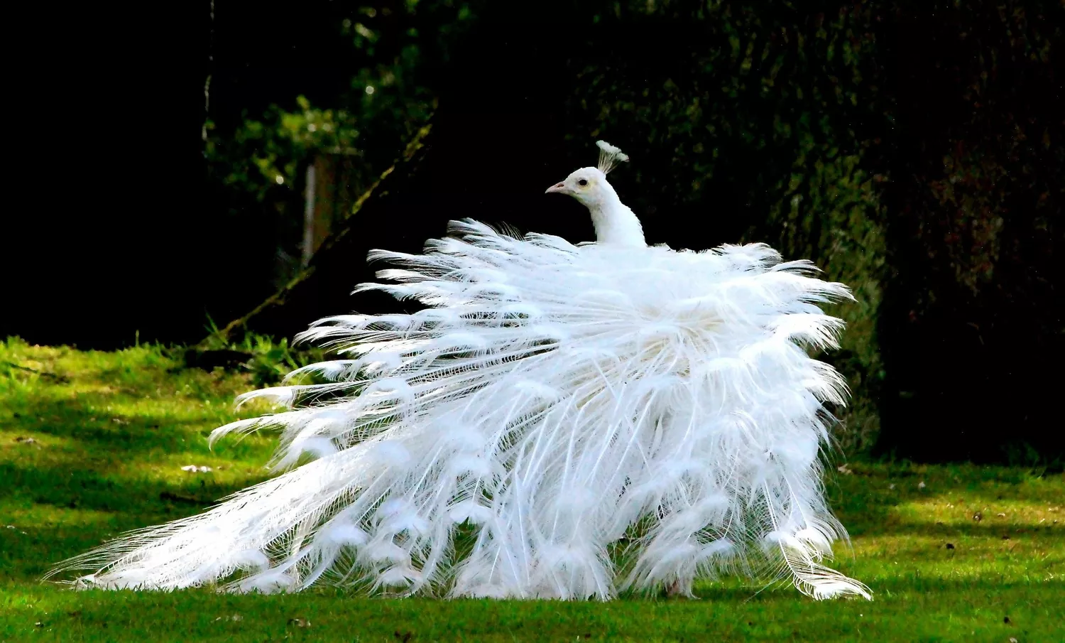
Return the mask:
<svg viewBox="0 0 1065 643"><path fill-rule="evenodd" d="M242 123L225 130L204 126L211 180L237 204L234 213L257 212L256 225L273 230L275 287L299 269L308 164L330 167L329 188L320 184L316 202L332 221L349 214L436 110L432 81L448 63L452 43L473 22L468 2L339 4L316 11L334 18L335 32L323 37L351 43L342 66L355 71L342 107L298 96L264 113L245 111Z"/></svg>

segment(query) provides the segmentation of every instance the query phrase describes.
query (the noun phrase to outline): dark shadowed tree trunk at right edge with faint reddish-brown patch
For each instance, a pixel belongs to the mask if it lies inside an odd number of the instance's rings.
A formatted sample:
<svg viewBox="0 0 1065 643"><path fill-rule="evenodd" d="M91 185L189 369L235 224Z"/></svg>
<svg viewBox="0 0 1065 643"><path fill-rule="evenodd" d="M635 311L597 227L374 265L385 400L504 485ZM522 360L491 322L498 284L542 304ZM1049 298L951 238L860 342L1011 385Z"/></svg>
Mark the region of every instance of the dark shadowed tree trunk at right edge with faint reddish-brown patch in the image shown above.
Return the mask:
<svg viewBox="0 0 1065 643"><path fill-rule="evenodd" d="M879 449L1060 463L1065 10L900 4Z"/></svg>

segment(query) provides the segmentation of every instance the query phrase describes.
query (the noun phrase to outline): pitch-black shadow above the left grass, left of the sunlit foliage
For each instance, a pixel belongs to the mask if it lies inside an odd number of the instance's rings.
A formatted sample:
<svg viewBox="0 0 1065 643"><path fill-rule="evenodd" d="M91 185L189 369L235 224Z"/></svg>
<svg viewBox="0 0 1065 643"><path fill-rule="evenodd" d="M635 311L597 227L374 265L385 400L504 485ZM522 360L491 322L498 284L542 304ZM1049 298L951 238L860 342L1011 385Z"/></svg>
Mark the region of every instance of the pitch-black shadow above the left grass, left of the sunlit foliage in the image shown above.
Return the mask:
<svg viewBox="0 0 1065 643"><path fill-rule="evenodd" d="M328 37L332 6L219 1L213 38L207 0L24 16L39 29L39 55L19 68L29 127L15 132L29 203L0 232L21 268L0 335L198 341L209 314L225 323L268 295L277 230L262 204L208 180L204 80L223 130L298 93L335 100L357 62Z"/></svg>

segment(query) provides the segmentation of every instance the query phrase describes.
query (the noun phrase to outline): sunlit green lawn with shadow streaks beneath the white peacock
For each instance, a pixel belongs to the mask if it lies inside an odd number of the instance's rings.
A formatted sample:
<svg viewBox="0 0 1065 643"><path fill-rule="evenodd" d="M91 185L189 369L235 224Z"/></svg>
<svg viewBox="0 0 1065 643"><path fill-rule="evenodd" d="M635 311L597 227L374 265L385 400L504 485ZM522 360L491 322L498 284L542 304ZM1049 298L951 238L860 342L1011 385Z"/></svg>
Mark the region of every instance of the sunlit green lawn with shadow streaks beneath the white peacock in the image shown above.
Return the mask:
<svg viewBox="0 0 1065 643"><path fill-rule="evenodd" d="M213 452L206 439L250 387L247 375L181 369L155 347L0 344L0 641L1065 640L1065 480L1015 468L852 463L834 472L832 504L853 536L836 566L867 582L872 602L815 602L738 580L697 586L701 600L609 604L39 582L105 538L262 480L268 439ZM213 470L182 471L189 464Z"/></svg>

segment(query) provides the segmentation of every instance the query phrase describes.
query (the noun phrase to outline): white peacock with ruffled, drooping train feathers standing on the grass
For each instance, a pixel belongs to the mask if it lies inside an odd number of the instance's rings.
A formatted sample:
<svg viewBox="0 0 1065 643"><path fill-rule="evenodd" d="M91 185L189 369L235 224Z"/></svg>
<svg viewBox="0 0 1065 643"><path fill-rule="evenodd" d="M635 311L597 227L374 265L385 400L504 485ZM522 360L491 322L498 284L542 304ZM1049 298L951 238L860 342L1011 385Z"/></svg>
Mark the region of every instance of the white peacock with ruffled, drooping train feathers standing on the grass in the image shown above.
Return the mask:
<svg viewBox="0 0 1065 643"><path fill-rule="evenodd" d="M283 472L63 568L112 589L568 599L770 572L868 598L822 564L845 536L823 403L847 389L805 350L835 348L820 304L849 291L763 244L648 247L611 194L587 203L612 241L462 221L425 254L372 253L392 268L359 290L427 307L315 323L300 339L343 358L293 376L326 383L248 393L291 408L212 435L279 430ZM623 537L634 562L616 568Z"/></svg>

